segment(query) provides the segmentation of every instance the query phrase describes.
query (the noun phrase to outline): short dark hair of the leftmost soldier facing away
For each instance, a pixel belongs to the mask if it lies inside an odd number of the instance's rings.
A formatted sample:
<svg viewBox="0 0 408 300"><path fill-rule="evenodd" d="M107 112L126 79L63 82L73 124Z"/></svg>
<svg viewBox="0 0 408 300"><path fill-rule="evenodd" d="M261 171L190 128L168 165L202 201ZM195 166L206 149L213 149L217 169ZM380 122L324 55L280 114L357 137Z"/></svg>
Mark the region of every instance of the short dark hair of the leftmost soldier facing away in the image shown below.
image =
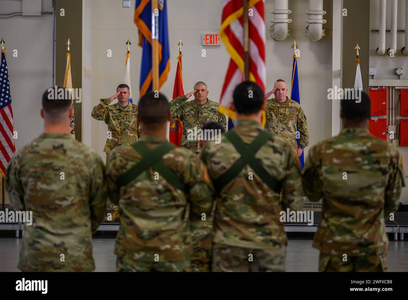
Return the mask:
<svg viewBox="0 0 408 300"><path fill-rule="evenodd" d="M42 109L47 118L60 119L62 114L69 111L71 104L71 89L55 86L42 94Z"/></svg>

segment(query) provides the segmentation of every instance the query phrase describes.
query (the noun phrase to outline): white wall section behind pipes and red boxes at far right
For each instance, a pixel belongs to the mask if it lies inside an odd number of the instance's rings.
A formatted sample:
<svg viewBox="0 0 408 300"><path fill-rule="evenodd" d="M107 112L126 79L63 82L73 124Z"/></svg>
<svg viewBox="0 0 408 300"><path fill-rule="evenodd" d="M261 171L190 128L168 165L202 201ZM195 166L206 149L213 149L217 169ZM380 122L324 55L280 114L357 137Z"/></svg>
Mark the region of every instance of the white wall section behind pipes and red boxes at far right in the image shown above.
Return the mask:
<svg viewBox="0 0 408 300"><path fill-rule="evenodd" d="M397 29L405 29L405 0L398 1L398 14L397 14ZM371 0L370 1L370 30L379 29L379 4L380 0ZM387 1L387 13L386 13L386 29L390 29L391 23L391 1ZM386 53L382 56L379 56L375 53L378 47L379 33L370 32L370 67L377 68L377 75L375 79L398 79L398 76L395 75L396 68L403 69L403 75L401 79L408 79L408 56L401 54L401 48L405 45L405 35L402 33L397 33L397 51L395 52L394 57L388 56ZM390 47L390 33L386 33L386 49ZM371 78L372 76L370 76ZM385 84L382 84L386 86ZM380 85L381 86L381 85ZM397 93L395 97L397 97ZM387 109L388 109L387 105ZM385 118L386 116L380 116ZM399 107L397 108L397 119L407 117L399 116ZM390 141L388 136L388 141ZM404 166L408 166L408 147L400 146L398 147L399 152L403 154L404 157ZM407 178L407 169L405 170L406 181L408 185ZM403 204L408 204L408 188L405 187L402 189L402 195L399 199Z"/></svg>

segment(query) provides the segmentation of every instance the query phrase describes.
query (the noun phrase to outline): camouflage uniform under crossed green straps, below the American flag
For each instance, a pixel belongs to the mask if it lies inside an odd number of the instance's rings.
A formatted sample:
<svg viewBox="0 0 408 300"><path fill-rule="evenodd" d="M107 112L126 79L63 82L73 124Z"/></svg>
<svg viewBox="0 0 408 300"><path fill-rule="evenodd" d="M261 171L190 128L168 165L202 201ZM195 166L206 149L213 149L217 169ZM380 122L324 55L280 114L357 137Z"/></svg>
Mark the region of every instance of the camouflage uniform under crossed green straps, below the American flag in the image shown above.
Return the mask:
<svg viewBox="0 0 408 300"><path fill-rule="evenodd" d="M239 121L233 131L248 144L264 130L256 121ZM252 271L284 270L287 237L279 213L298 210L302 198L300 167L290 149L284 139L271 134L255 154L280 183L286 195L282 201L279 191L267 186L249 165L217 191L212 271L249 271L251 254ZM220 144L208 143L201 155L214 183L241 157L227 136Z"/></svg>

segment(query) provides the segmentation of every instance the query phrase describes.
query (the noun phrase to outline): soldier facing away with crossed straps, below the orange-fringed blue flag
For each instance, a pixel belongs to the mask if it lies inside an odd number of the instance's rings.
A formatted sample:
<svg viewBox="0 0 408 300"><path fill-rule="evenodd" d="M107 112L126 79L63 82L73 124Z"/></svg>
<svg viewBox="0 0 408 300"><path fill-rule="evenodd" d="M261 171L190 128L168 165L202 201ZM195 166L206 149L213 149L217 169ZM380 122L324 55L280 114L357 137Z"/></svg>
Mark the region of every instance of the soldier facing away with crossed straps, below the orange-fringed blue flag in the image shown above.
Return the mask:
<svg viewBox="0 0 408 300"><path fill-rule="evenodd" d="M145 94L137 143L116 148L106 172L109 196L121 208L115 254L118 271L190 271L190 221L211 213L213 188L204 165L191 151L166 139L169 103L163 94Z"/></svg>

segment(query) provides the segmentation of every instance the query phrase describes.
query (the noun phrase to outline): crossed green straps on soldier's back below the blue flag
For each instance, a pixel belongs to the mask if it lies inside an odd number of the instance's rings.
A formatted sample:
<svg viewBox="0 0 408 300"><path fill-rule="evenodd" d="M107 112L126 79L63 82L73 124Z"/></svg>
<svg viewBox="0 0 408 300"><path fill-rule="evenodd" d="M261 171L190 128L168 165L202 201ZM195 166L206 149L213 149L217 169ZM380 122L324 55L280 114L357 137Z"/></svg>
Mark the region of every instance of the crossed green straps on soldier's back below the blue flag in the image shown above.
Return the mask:
<svg viewBox="0 0 408 300"><path fill-rule="evenodd" d="M159 176L162 176L169 184L183 192L185 191L184 182L160 161L164 154L175 148L173 144L168 142L163 143L157 146L153 151L150 150L144 142L133 143L131 146L140 153L142 160L120 175L118 179L119 186L129 184L129 182L136 179L144 171L153 168L159 173Z"/></svg>

